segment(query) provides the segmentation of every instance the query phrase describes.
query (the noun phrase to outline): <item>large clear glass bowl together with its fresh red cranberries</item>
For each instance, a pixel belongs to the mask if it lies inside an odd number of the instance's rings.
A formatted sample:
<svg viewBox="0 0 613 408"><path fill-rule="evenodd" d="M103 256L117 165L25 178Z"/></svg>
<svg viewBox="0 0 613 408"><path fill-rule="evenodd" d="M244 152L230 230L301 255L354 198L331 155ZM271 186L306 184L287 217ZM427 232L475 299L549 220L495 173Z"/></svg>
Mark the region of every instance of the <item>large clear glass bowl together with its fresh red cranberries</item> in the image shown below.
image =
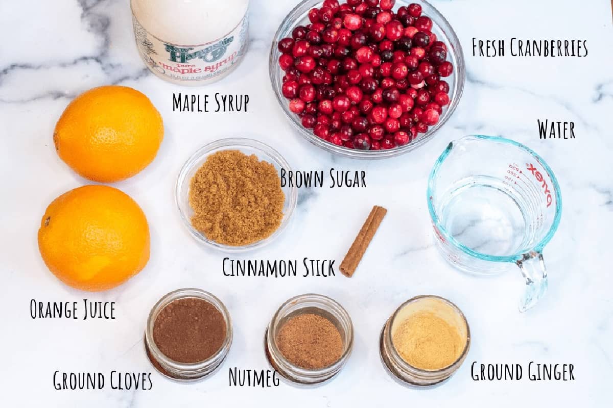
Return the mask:
<svg viewBox="0 0 613 408"><path fill-rule="evenodd" d="M454 112L466 73L454 30L428 2L304 0L275 34L270 80L308 141L386 158L432 138Z"/></svg>

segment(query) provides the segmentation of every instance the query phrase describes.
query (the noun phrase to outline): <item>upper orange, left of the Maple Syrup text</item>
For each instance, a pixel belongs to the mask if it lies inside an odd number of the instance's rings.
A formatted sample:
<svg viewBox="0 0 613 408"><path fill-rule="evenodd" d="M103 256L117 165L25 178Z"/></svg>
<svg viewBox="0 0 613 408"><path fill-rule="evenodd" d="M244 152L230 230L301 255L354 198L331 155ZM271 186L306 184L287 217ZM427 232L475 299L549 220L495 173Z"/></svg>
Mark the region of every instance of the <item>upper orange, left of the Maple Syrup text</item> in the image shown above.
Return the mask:
<svg viewBox="0 0 613 408"><path fill-rule="evenodd" d="M132 177L158 154L164 125L149 98L127 86L78 95L59 117L53 143L80 176L102 183Z"/></svg>

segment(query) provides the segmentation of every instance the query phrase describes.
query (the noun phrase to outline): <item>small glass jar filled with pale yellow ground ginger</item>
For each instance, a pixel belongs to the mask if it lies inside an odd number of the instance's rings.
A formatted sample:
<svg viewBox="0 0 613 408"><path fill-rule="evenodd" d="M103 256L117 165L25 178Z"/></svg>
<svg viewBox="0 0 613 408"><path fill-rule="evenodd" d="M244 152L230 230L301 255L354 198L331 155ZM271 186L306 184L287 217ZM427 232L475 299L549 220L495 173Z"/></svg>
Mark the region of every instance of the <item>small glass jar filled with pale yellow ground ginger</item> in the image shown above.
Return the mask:
<svg viewBox="0 0 613 408"><path fill-rule="evenodd" d="M428 387L449 379L470 348L470 328L460 309L442 297L407 300L381 331L379 351L389 372L405 385Z"/></svg>

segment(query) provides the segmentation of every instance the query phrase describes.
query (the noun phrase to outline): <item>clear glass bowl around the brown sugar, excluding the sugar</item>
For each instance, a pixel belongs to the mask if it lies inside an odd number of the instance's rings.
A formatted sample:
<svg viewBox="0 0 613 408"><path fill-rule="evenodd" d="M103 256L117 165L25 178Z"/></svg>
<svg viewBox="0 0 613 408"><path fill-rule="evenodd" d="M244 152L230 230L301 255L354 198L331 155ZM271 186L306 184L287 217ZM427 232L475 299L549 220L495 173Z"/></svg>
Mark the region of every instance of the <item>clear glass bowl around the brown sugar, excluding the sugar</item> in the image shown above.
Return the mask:
<svg viewBox="0 0 613 408"><path fill-rule="evenodd" d="M177 206L179 207L179 212L181 213L181 219L183 220L183 223L187 227L188 231L191 232L192 236L208 247L234 253L261 248L278 237L283 229L286 228L296 207L298 190L296 187L282 187L285 195L283 219L281 220L281 225L279 228L277 228L276 231L269 237L254 243L250 243L249 245L243 245L241 247L232 247L230 245L224 245L208 239L204 236L204 234L202 234L202 232L198 231L191 224L191 217L194 215L194 210L192 210L191 206L189 205L189 184L191 183L191 179L194 177L194 174L196 174L200 166L202 166L207 160L207 157L221 150L239 150L246 155L254 154L259 158L259 160L264 160L274 165L277 171L280 171L281 168L291 171L289 164L287 164L287 161L279 152L267 144L259 141L245 138L229 138L220 139L213 143L209 143L198 149L197 152L194 153L188 159L188 161L186 161L185 165L183 165L183 168L181 169L181 172L179 173L177 190L175 191L175 199L177 200Z"/></svg>

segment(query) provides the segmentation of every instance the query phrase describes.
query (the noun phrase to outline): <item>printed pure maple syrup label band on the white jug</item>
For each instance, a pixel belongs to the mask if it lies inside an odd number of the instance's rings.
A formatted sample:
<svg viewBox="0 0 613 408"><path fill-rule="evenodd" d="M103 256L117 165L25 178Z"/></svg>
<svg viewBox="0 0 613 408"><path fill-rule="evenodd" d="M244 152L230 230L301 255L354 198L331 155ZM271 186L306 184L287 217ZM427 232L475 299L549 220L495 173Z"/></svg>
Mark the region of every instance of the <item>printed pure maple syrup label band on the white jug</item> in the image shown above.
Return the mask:
<svg viewBox="0 0 613 408"><path fill-rule="evenodd" d="M178 81L202 81L240 61L247 45L249 17L221 39L204 44L174 44L147 31L132 14L136 45L151 70Z"/></svg>

